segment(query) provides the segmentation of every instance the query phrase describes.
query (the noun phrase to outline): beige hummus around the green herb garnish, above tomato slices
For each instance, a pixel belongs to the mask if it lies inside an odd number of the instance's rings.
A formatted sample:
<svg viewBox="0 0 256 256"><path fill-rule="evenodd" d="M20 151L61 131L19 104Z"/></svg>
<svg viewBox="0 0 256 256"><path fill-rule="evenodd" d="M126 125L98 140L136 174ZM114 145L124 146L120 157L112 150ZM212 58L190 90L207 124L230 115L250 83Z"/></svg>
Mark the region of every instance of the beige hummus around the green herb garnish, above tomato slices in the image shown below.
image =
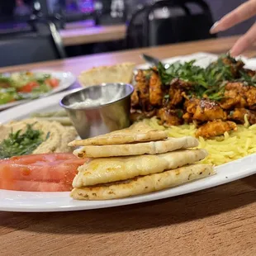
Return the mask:
<svg viewBox="0 0 256 256"><path fill-rule="evenodd" d="M57 121L40 121L36 118L12 121L0 125L0 142L7 139L12 131L14 133L17 132L17 130L25 131L27 124L34 124L33 129L41 130L43 132L43 138L46 138L49 134L48 139L42 142L33 151L33 154L66 153L73 151L73 149L68 146L69 142L77 137L77 132L73 126L62 126Z"/></svg>

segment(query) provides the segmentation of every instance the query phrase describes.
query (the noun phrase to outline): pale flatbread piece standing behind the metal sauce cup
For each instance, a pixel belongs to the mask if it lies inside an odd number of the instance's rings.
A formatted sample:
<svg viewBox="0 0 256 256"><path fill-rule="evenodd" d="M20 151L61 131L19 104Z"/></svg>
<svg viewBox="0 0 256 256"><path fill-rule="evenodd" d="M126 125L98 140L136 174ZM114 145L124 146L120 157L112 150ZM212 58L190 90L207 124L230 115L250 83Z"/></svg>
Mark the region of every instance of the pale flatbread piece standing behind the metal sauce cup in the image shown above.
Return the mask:
<svg viewBox="0 0 256 256"><path fill-rule="evenodd" d="M101 66L83 71L78 81L83 87L101 83L130 83L135 64L123 63L112 66Z"/></svg>

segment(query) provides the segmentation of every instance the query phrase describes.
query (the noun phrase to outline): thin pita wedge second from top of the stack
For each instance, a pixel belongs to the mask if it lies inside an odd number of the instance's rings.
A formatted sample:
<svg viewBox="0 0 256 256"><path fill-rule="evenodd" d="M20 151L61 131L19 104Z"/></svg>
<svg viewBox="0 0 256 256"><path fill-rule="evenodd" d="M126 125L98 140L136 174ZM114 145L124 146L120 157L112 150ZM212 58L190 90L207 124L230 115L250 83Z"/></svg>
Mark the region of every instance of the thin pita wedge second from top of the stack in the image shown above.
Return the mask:
<svg viewBox="0 0 256 256"><path fill-rule="evenodd" d="M105 158L111 156L128 156L141 154L162 154L177 149L197 147L198 140L192 136L168 138L160 141L150 141L126 145L88 145L76 149L73 154L79 158Z"/></svg>

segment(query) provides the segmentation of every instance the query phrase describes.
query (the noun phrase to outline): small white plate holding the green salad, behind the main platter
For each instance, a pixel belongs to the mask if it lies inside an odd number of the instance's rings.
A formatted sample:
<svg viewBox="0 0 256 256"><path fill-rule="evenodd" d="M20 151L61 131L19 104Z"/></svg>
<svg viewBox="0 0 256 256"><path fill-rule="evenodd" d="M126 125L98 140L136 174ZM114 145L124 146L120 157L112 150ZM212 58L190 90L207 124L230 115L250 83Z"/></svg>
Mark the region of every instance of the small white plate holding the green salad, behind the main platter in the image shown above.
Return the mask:
<svg viewBox="0 0 256 256"><path fill-rule="evenodd" d="M65 89L69 88L76 81L75 76L73 75L73 73L70 73L70 72L57 72L57 71L52 71L52 70L40 70L40 69L31 70L31 72L32 73L40 73L40 74L47 73L47 74L50 74L52 78L58 78L60 81L59 86L57 88L54 88L52 91L42 94L40 97L47 97L56 92L64 91ZM8 75L8 74L6 74L6 75ZM23 103L30 102L30 101L31 101L31 99L26 99L26 100L21 100L21 101L17 101L17 102L2 104L2 105L0 105L0 111L10 108L10 107L15 107L17 105L21 105Z"/></svg>

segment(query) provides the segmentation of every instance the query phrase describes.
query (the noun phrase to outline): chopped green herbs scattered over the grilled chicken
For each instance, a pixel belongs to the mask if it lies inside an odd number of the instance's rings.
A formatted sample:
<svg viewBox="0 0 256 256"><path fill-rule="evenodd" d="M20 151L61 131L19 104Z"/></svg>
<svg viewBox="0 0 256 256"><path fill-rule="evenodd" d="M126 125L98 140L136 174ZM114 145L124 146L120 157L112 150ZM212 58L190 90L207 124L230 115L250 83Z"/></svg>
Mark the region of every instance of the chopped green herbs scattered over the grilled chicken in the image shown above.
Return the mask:
<svg viewBox="0 0 256 256"><path fill-rule="evenodd" d="M239 69L238 66L244 65L243 62L228 54L220 55L220 58L206 69L194 65L195 61L184 64L175 62L168 66L159 63L158 71L162 83L169 85L174 78L178 78L191 84L191 87L187 88L188 97L207 97L215 101L224 97L225 84L228 82L241 82L256 87L256 75L250 76L245 69Z"/></svg>

